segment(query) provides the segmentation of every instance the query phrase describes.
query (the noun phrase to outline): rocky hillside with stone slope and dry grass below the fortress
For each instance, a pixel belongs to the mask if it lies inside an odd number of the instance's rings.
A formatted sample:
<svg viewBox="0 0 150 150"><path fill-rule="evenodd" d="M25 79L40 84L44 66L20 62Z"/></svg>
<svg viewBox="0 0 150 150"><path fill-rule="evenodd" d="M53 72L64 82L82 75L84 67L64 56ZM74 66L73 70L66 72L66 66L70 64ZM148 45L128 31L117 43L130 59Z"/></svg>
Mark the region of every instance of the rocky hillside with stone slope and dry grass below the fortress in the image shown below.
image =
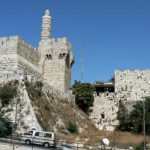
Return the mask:
<svg viewBox="0 0 150 150"><path fill-rule="evenodd" d="M70 94L56 91L41 82L14 81L1 85L1 89L5 90L5 96L0 93L0 113L17 123L18 132L35 128L53 130L60 137L83 138L97 132ZM4 102L10 91L13 91L12 95Z"/></svg>

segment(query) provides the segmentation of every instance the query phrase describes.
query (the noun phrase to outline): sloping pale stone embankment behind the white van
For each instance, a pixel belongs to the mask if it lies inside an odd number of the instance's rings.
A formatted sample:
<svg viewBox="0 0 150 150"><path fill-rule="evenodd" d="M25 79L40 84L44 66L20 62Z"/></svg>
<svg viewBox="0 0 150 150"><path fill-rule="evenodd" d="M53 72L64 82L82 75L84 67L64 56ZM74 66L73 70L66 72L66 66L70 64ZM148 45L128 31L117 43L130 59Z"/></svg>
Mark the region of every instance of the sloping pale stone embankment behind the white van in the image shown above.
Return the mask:
<svg viewBox="0 0 150 150"><path fill-rule="evenodd" d="M19 100L18 102L17 99ZM0 107L0 113L4 113L5 116L9 117L13 122L15 122L16 119L17 132L19 133L31 129L43 130L36 118L34 108L23 81L19 81L17 98L12 99L8 106Z"/></svg>

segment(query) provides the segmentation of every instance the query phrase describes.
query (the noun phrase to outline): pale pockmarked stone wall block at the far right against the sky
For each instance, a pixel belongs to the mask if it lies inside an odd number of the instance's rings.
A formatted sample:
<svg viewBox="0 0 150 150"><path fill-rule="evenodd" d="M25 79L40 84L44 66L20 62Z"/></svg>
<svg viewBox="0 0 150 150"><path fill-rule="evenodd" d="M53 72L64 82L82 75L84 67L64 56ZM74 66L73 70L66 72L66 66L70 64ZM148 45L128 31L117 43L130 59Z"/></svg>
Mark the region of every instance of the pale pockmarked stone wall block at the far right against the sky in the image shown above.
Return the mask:
<svg viewBox="0 0 150 150"><path fill-rule="evenodd" d="M150 70L115 71L116 99L129 109L136 101L150 96Z"/></svg>

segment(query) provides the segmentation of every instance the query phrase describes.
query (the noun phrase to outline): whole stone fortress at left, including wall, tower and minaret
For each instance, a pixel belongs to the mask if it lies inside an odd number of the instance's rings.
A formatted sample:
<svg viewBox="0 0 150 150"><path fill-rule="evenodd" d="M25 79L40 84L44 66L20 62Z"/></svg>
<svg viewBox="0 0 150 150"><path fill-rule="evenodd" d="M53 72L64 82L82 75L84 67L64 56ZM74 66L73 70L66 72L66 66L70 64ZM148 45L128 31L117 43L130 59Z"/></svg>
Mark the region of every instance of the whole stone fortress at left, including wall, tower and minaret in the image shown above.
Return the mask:
<svg viewBox="0 0 150 150"><path fill-rule="evenodd" d="M25 78L42 80L55 89L70 88L74 56L67 38L51 38L50 11L42 17L41 40L38 48L19 36L0 38L0 82Z"/></svg>

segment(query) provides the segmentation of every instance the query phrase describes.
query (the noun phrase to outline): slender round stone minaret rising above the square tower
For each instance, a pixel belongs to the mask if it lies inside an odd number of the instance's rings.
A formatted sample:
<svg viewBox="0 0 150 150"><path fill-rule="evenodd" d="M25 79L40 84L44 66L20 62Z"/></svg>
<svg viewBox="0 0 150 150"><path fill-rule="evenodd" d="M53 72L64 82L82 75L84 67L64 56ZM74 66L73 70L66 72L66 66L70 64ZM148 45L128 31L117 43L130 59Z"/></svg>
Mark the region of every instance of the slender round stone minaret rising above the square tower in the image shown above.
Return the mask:
<svg viewBox="0 0 150 150"><path fill-rule="evenodd" d="M45 14L42 17L41 40L49 39L51 37L51 20L50 11L46 9Z"/></svg>

